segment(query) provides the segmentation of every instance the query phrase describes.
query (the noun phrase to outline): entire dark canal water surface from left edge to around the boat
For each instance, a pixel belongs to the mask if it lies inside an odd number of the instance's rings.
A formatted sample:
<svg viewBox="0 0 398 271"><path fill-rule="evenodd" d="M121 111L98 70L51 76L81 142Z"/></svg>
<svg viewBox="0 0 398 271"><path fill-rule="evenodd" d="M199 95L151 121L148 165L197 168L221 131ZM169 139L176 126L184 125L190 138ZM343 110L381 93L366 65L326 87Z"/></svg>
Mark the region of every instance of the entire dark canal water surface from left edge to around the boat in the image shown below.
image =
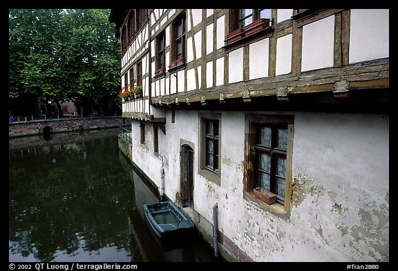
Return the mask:
<svg viewBox="0 0 398 271"><path fill-rule="evenodd" d="M10 262L222 261L196 230L161 241L158 192L120 152L120 129L9 140Z"/></svg>

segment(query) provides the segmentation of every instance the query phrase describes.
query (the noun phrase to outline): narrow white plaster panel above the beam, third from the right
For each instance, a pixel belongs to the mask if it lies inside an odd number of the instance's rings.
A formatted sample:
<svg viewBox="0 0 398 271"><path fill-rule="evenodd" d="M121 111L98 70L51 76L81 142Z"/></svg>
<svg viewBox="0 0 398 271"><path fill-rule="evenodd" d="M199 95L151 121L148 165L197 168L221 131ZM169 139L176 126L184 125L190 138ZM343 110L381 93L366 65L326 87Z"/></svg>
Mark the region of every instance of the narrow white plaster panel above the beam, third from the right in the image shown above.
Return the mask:
<svg viewBox="0 0 398 271"><path fill-rule="evenodd" d="M276 40L276 75L287 74L292 70L292 34Z"/></svg>

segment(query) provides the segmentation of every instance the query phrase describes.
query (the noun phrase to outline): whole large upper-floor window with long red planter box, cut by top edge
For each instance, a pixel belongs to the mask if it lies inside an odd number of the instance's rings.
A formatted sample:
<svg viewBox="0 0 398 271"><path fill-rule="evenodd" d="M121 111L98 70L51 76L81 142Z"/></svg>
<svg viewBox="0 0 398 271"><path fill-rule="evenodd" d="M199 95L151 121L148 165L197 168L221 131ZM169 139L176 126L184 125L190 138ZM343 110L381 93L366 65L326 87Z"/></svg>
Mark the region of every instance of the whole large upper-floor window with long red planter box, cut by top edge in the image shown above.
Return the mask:
<svg viewBox="0 0 398 271"><path fill-rule="evenodd" d="M229 14L227 44L243 39L272 25L271 9L233 9Z"/></svg>

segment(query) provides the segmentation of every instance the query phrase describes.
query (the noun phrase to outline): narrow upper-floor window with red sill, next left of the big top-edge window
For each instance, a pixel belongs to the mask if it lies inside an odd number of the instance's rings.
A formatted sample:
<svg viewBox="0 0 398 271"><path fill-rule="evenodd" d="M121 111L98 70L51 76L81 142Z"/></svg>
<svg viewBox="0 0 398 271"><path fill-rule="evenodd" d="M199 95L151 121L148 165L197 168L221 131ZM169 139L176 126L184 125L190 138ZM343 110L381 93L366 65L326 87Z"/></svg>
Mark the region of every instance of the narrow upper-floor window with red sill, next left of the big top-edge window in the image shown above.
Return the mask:
<svg viewBox="0 0 398 271"><path fill-rule="evenodd" d="M171 36L172 62L170 68L185 63L185 14L173 22Z"/></svg>

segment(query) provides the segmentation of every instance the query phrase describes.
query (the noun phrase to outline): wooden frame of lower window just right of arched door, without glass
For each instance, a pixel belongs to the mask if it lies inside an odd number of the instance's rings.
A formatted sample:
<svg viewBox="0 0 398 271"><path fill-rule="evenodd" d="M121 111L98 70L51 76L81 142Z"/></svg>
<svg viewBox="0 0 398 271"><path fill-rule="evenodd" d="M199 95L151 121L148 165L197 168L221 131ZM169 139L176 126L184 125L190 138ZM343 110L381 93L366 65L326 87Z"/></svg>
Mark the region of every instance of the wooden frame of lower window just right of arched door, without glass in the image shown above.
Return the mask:
<svg viewBox="0 0 398 271"><path fill-rule="evenodd" d="M207 122L208 121L217 121L218 129L214 134L207 133ZM212 181L218 185L221 183L221 113L208 113L208 112L200 112L199 113L199 139L200 139L200 159L198 166L198 173ZM217 145L214 145L214 164L217 165L217 168L210 168L207 165L207 141L213 140L217 142ZM215 155L215 152L217 153ZM217 157L217 158L216 158ZM217 159L217 160L215 160Z"/></svg>

